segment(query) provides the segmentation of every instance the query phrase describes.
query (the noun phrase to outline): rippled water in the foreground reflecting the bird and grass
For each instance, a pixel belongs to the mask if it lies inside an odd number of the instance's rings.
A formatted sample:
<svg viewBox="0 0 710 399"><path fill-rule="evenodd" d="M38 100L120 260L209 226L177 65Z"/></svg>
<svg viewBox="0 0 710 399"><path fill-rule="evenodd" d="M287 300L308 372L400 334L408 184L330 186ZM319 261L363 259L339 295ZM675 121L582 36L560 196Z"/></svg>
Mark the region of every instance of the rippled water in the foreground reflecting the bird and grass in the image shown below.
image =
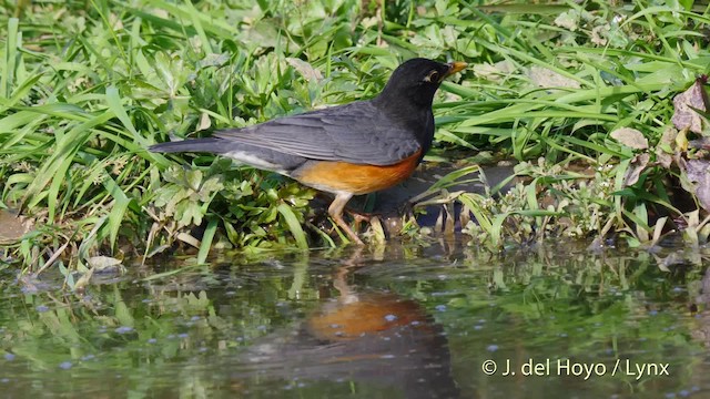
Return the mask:
<svg viewBox="0 0 710 399"><path fill-rule="evenodd" d="M659 259L679 263L662 272ZM4 272L3 397L683 398L710 392L702 250L452 243ZM16 282L16 283L10 283Z"/></svg>

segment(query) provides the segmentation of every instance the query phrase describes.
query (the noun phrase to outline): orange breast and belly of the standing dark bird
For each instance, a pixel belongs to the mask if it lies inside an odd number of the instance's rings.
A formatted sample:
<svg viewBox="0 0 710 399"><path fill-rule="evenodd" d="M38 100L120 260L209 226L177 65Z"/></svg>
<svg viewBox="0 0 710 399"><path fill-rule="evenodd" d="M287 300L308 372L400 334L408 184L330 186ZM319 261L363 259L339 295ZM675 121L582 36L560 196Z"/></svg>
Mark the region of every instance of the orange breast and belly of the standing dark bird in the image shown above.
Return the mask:
<svg viewBox="0 0 710 399"><path fill-rule="evenodd" d="M417 167L422 151L394 165L357 165L347 162L313 162L298 170L298 182L327 192L348 192L355 195L392 187L406 180Z"/></svg>

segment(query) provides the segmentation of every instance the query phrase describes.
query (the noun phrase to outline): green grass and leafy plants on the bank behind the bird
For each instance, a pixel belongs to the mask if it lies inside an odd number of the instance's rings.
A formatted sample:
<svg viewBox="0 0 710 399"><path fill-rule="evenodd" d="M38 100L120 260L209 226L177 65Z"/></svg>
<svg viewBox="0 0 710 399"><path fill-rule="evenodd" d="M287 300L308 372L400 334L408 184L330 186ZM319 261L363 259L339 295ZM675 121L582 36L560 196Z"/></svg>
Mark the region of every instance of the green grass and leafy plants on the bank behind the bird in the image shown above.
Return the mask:
<svg viewBox="0 0 710 399"><path fill-rule="evenodd" d="M692 2L18 4L0 11L0 206L34 223L4 250L27 268L174 243L200 262L215 247L338 245L317 227L313 191L145 149L372 98L415 55L473 65L435 100L435 154L477 147L530 161L517 168L528 181L500 201L434 187L474 212L475 242L618 231L641 245L657 216L693 211L676 203L690 194L665 185L677 167L649 166L626 186L638 151L609 136L637 129L656 156L672 98L710 65L710 14Z"/></svg>

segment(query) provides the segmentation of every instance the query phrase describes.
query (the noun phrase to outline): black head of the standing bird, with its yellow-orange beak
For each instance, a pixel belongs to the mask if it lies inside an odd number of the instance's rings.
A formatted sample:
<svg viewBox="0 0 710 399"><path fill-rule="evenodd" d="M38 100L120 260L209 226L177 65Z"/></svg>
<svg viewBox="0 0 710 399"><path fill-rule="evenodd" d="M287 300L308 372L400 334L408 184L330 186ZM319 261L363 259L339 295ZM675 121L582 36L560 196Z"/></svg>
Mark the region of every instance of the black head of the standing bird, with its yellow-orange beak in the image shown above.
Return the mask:
<svg viewBox="0 0 710 399"><path fill-rule="evenodd" d="M378 100L396 102L405 108L430 109L442 81L464 68L465 62L440 63L423 58L408 60L392 73Z"/></svg>

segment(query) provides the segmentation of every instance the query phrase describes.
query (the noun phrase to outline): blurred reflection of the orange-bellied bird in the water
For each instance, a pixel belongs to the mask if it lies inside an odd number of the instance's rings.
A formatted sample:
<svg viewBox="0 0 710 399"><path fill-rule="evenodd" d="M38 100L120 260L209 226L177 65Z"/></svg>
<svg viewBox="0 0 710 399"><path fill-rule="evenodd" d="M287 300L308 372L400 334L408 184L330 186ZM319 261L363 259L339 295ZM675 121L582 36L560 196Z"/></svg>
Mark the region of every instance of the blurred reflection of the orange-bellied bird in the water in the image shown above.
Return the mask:
<svg viewBox="0 0 710 399"><path fill-rule="evenodd" d="M292 334L251 348L262 378L341 381L346 392L457 398L446 336L416 301L349 284L359 250L333 278L327 299ZM355 391L353 391L355 389Z"/></svg>

